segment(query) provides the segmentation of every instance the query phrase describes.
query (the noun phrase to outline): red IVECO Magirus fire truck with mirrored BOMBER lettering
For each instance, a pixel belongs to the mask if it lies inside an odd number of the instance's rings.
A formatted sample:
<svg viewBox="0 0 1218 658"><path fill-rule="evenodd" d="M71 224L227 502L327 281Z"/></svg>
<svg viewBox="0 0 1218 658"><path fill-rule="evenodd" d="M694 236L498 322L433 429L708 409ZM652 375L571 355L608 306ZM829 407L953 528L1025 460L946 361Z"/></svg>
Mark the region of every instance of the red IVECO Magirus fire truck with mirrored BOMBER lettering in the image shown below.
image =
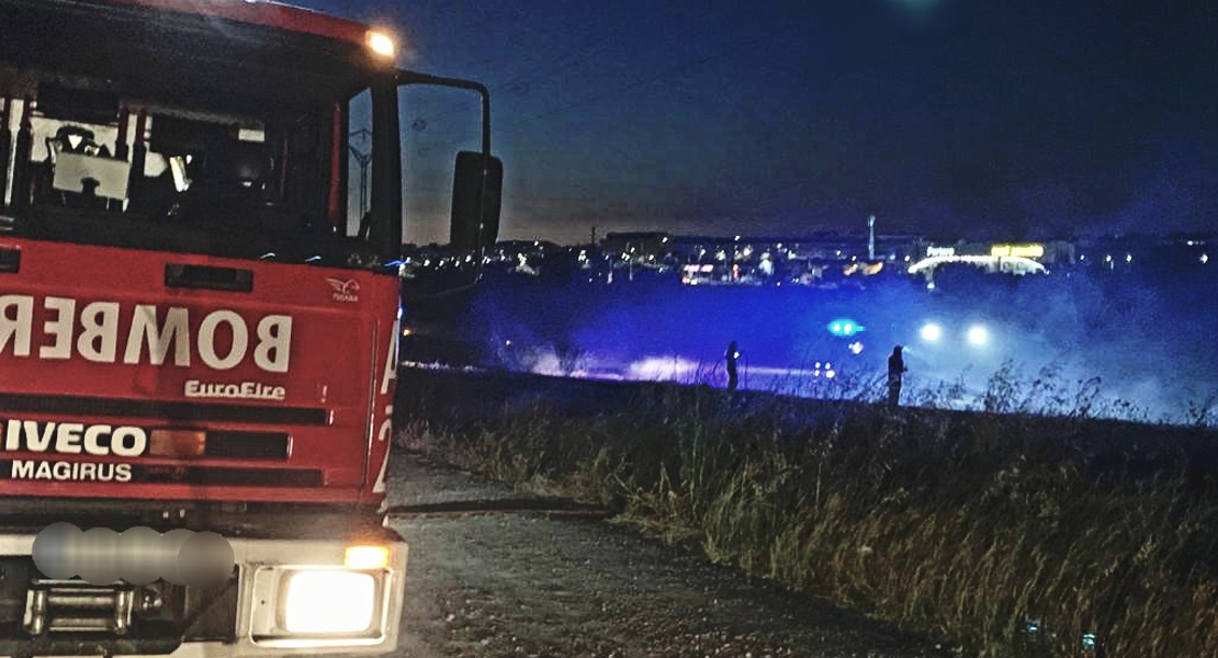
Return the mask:
<svg viewBox="0 0 1218 658"><path fill-rule="evenodd" d="M481 96L453 242L492 242L486 89L250 0L0 0L0 656L378 654L400 90ZM358 144L357 144L358 142ZM228 539L227 581L35 567L56 522Z"/></svg>

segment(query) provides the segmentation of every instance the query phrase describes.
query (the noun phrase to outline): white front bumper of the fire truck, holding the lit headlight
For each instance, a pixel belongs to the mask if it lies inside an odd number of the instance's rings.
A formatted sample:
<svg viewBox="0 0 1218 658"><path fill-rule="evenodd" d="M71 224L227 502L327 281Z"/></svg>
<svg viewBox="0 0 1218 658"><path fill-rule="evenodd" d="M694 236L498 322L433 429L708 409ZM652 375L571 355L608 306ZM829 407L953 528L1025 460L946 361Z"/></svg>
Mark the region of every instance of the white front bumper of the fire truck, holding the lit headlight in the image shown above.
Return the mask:
<svg viewBox="0 0 1218 658"><path fill-rule="evenodd" d="M164 583L143 589L97 587L91 600L104 603L107 596L157 601L157 619L147 620L141 620L139 603L135 612L128 603L123 631L67 630L82 623L68 615L84 613L67 607L45 609L48 600L54 606L55 587L68 591L68 585L79 581L41 579L30 557L34 538L0 534L0 658L375 656L397 647L408 547L390 530L375 541L389 549L384 566L348 568L352 542L343 540L228 538L236 569L225 586L213 589L214 595ZM44 594L43 603L35 606L39 589L50 595ZM60 600L78 602L80 597L73 590ZM23 613L15 606L23 607ZM38 615L46 617L44 630L32 634Z"/></svg>

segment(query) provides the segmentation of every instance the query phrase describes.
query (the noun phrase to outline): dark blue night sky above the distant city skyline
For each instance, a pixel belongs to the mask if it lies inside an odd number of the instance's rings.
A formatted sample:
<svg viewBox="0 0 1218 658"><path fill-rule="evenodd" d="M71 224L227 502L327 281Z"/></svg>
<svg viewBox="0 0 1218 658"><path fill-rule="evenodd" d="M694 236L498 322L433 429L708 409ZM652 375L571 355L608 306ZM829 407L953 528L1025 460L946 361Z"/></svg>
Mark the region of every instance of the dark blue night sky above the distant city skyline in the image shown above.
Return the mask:
<svg viewBox="0 0 1218 658"><path fill-rule="evenodd" d="M799 236L872 213L942 237L1218 230L1209 0L296 2L492 88L504 238ZM476 105L408 100L408 237L445 241Z"/></svg>

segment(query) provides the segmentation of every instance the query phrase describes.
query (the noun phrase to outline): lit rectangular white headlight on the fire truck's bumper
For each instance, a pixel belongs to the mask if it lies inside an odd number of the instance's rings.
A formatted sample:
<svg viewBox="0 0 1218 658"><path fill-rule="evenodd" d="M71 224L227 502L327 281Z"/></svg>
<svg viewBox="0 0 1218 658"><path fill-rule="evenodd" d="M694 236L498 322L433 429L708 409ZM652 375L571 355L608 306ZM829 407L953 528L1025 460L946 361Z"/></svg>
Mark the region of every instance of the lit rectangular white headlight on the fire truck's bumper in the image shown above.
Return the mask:
<svg viewBox="0 0 1218 658"><path fill-rule="evenodd" d="M347 570L300 570L287 580L284 628L298 634L367 631L376 613L376 579Z"/></svg>

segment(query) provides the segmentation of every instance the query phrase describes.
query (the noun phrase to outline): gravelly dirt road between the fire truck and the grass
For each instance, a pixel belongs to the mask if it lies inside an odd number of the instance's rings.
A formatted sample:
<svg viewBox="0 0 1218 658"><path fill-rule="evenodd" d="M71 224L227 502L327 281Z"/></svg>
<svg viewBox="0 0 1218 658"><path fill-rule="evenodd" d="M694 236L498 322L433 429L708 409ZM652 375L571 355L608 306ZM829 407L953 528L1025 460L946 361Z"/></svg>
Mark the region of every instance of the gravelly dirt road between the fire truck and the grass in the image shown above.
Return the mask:
<svg viewBox="0 0 1218 658"><path fill-rule="evenodd" d="M949 656L597 514L521 511L548 505L418 456L398 455L390 491L400 508L497 501L393 517L410 545L400 656Z"/></svg>

